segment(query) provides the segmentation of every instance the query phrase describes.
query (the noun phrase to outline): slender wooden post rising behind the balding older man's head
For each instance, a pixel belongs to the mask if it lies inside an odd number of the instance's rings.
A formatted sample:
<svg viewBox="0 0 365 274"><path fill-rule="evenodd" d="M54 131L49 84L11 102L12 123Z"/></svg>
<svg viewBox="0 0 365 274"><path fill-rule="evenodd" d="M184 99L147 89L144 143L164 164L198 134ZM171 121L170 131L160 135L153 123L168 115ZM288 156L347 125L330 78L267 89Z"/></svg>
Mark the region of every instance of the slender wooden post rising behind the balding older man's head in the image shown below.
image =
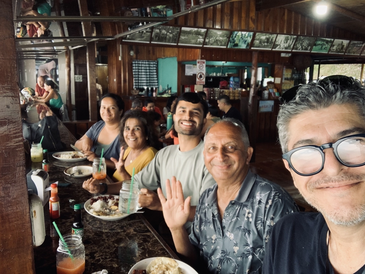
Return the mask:
<svg viewBox="0 0 365 274"><path fill-rule="evenodd" d="M258 52L252 52L252 66L251 66L251 87L249 95L249 140L250 145L253 147L253 155L251 157L251 163L255 161L256 153L256 118L257 118L257 99L256 99L256 78L257 78L257 59Z"/></svg>

